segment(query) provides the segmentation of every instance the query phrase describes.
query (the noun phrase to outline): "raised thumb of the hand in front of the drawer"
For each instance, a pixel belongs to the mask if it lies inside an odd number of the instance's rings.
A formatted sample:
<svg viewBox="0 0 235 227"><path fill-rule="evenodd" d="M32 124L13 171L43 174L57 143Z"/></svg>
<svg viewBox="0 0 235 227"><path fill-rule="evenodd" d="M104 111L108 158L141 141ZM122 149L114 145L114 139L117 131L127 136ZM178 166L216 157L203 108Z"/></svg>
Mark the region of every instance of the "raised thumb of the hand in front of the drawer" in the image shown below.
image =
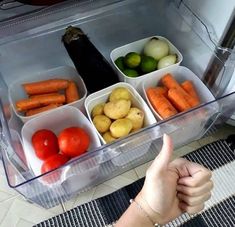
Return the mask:
<svg viewBox="0 0 235 227"><path fill-rule="evenodd" d="M152 168L166 169L171 161L173 153L173 141L167 134L163 135L163 145L159 155L154 159Z"/></svg>

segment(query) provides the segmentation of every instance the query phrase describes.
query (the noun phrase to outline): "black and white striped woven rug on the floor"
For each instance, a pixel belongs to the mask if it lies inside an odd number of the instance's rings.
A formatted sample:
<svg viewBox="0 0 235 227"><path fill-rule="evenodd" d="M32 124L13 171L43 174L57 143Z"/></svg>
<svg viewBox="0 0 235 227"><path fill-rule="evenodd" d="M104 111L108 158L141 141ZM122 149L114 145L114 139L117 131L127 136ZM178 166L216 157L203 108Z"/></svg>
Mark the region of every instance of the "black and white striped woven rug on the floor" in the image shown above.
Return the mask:
<svg viewBox="0 0 235 227"><path fill-rule="evenodd" d="M166 227L235 226L235 153L226 140L218 140L197 149L184 158L213 171L214 189L205 209L197 215L183 214ZM73 208L43 221L36 227L113 226L143 185L140 179L112 194Z"/></svg>

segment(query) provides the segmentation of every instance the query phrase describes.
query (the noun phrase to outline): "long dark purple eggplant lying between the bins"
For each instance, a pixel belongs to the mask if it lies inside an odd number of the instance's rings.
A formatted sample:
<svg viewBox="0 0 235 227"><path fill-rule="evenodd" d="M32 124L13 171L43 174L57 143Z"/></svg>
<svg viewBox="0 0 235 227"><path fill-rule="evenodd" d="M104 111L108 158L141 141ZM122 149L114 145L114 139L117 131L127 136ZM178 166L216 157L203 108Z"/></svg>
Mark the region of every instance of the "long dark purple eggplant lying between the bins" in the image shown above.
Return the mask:
<svg viewBox="0 0 235 227"><path fill-rule="evenodd" d="M89 93L119 82L111 65L80 28L69 26L62 42Z"/></svg>

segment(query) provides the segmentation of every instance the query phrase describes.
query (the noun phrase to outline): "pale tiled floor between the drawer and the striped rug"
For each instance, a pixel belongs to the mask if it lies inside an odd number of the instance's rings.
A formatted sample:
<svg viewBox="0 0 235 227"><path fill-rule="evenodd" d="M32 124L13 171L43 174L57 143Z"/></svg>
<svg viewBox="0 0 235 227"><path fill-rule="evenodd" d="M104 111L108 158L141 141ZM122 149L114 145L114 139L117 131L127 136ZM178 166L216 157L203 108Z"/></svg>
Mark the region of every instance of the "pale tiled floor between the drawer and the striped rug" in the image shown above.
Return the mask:
<svg viewBox="0 0 235 227"><path fill-rule="evenodd" d="M174 158L193 151L200 146L215 141L219 138L226 138L227 135L235 133L235 127L225 125L213 136L208 136L199 141L188 144L175 150ZM109 194L125 185L131 184L145 175L145 171L151 162L130 170L105 183L82 193L76 198L66 202L64 206L59 205L52 209L44 209L35 204L29 203L21 195L10 189L7 185L5 173L0 163L0 226L1 227L28 227L48 219L56 214L62 213L63 209L71 209L92 199Z"/></svg>

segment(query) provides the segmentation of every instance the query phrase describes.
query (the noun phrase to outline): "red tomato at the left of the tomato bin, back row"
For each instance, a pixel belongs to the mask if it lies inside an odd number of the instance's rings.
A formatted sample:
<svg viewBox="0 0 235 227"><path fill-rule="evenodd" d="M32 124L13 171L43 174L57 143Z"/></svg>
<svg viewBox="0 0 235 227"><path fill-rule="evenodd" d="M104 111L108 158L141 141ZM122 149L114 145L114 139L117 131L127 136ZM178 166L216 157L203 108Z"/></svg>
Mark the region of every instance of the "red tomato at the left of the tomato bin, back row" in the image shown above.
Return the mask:
<svg viewBox="0 0 235 227"><path fill-rule="evenodd" d="M59 152L56 135L54 132L47 129L35 132L32 136L32 144L37 157L41 160L46 160Z"/></svg>

